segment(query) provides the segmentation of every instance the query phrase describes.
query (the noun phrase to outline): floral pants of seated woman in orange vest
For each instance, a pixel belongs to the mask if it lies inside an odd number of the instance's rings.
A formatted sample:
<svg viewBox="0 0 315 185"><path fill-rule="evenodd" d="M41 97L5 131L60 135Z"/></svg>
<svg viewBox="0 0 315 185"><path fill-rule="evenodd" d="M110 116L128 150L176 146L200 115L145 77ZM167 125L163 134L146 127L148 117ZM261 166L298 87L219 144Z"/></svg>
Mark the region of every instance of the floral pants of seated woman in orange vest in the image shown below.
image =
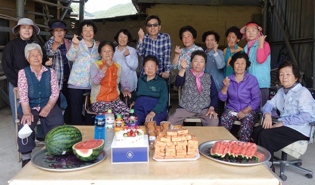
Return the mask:
<svg viewBox="0 0 315 185"><path fill-rule="evenodd" d="M115 118L117 118L117 115L120 114L121 118L125 122L125 126L127 126L127 117L129 115L130 109L120 99L114 101L98 101L92 103L92 110L94 112L107 112L108 109L112 109Z"/></svg>

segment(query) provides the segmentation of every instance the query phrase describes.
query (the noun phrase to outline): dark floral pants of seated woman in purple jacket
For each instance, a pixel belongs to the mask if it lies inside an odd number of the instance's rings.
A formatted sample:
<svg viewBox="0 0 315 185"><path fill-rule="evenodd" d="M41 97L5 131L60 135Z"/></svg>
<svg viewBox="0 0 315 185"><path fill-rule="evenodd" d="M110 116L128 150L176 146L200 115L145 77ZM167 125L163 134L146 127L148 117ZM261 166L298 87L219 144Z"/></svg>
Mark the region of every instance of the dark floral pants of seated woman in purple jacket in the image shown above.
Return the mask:
<svg viewBox="0 0 315 185"><path fill-rule="evenodd" d="M219 126L225 127L229 132L233 126L234 121L238 121L238 118L232 115L230 112L235 112L232 109L225 109L222 113ZM253 126L257 122L258 111L250 111L246 116L239 120L241 122L241 133L239 135L239 140L244 142L249 142L250 136L253 133Z"/></svg>

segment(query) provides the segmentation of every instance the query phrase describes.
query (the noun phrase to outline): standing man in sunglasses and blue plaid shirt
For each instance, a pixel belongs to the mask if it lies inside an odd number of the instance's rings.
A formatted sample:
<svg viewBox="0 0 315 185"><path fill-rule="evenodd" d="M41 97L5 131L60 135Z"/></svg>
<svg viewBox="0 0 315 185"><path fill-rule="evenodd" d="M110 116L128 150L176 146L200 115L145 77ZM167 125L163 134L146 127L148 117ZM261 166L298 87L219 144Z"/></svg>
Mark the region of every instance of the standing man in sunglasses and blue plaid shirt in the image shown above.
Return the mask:
<svg viewBox="0 0 315 185"><path fill-rule="evenodd" d="M158 59L157 73L163 78L169 77L172 67L170 63L171 39L169 34L159 32L161 29L161 20L156 15L151 15L146 19L147 34L140 28L138 31L139 40L137 44L137 53L141 57L140 76L145 75L143 70L143 58L147 55L156 56Z"/></svg>

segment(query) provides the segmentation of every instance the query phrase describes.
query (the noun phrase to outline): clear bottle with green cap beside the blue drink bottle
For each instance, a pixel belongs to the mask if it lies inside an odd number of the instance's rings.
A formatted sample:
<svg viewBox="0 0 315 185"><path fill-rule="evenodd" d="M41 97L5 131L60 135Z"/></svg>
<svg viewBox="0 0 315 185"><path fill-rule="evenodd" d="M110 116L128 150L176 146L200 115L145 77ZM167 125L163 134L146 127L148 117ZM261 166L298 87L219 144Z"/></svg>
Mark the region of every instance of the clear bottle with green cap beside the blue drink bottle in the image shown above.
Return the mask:
<svg viewBox="0 0 315 185"><path fill-rule="evenodd" d="M105 113L105 144L110 146L114 138L114 121L115 116L112 113L112 109L108 109Z"/></svg>

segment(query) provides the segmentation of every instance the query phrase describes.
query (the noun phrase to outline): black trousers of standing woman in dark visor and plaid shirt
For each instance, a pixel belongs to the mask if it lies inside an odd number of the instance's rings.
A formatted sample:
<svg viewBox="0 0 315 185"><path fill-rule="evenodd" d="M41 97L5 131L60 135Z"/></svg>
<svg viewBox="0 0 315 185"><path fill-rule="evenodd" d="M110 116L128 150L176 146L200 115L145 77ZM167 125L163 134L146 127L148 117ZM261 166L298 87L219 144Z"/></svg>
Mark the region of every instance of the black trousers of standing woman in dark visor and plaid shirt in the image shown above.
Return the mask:
<svg viewBox="0 0 315 185"><path fill-rule="evenodd" d="M70 124L70 122L71 122L71 106L70 106L70 98L69 98L68 80L69 80L69 74L64 74L63 86L62 86L62 90L60 90L60 92L62 92L62 94L65 96L66 102L67 102L67 107L66 107L66 110L63 114L63 119L64 119L64 122L66 124ZM58 100L57 100L57 105L59 107L61 107L60 106L60 95L59 95Z"/></svg>

